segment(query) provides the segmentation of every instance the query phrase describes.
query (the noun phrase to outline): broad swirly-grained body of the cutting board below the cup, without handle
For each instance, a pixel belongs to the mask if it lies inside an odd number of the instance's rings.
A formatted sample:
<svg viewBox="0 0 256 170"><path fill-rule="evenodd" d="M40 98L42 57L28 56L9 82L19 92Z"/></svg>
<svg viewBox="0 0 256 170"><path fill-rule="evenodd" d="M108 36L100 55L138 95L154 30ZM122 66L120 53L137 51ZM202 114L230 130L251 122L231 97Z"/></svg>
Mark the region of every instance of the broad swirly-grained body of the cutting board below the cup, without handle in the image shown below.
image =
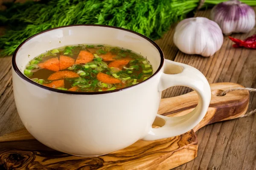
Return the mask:
<svg viewBox="0 0 256 170"><path fill-rule="evenodd" d="M145 147L141 147L145 146ZM55 150L51 150L36 140L1 143L0 166L9 169L49 169L59 168L61 170L75 169L166 169L169 167L166 159L172 158L176 167L182 158L185 162L192 160L196 155L197 139L193 131L183 136L162 139L156 143L138 141L114 153L98 157L70 156ZM14 149L15 148L15 149ZM176 152L176 148L180 148ZM155 152L155 150L161 152ZM175 151L175 152L174 152ZM181 159L180 159L181 158ZM176 159L176 160L175 160ZM179 161L177 161L179 160ZM178 163L178 164L177 164Z"/></svg>

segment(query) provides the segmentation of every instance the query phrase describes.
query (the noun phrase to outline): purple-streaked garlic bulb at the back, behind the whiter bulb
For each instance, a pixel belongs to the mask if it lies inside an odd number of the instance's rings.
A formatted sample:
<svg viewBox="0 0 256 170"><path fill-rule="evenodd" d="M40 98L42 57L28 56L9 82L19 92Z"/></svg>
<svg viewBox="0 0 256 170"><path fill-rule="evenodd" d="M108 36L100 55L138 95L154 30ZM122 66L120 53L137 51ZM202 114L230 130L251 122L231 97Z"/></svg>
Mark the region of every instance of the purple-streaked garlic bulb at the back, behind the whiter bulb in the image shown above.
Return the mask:
<svg viewBox="0 0 256 170"><path fill-rule="evenodd" d="M255 12L239 0L219 3L211 11L211 19L218 23L223 34L246 33L255 26Z"/></svg>

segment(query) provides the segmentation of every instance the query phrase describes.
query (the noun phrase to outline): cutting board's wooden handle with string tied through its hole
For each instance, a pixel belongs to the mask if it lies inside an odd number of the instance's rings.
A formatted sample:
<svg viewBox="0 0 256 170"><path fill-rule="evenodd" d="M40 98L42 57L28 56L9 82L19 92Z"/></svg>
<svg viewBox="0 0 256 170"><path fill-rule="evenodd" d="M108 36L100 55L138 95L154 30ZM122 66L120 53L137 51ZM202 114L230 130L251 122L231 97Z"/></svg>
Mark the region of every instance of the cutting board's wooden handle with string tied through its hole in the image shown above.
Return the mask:
<svg viewBox="0 0 256 170"><path fill-rule="evenodd" d="M241 85L231 82L214 83L210 85L212 98L204 119L193 129L197 131L205 125L224 120L235 119L247 112L250 94L248 91L230 91L224 96L218 96L223 91L231 88L244 88ZM198 104L198 96L195 91L181 96L162 99L158 114L163 116L177 117L191 112ZM153 125L159 125L156 119ZM162 123L163 124L163 123Z"/></svg>

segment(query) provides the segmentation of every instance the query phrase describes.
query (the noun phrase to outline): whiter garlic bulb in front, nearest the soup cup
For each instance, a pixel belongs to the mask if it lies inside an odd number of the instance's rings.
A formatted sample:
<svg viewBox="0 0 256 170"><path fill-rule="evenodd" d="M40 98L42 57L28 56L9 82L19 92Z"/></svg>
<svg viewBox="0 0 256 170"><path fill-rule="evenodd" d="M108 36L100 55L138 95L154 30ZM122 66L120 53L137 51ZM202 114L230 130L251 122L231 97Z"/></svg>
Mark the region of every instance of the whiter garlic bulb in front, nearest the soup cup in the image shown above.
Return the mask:
<svg viewBox="0 0 256 170"><path fill-rule="evenodd" d="M221 48L223 34L212 20L205 17L188 18L176 26L173 42L183 53L209 57Z"/></svg>

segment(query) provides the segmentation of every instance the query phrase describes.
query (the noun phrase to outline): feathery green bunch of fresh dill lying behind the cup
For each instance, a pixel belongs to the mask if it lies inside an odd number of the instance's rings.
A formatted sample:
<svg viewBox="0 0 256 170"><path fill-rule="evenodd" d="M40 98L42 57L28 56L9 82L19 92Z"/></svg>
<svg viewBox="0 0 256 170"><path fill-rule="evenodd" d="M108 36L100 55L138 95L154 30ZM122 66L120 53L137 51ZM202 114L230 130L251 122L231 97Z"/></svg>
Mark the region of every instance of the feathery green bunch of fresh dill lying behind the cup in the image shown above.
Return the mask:
<svg viewBox="0 0 256 170"><path fill-rule="evenodd" d="M8 3L0 11L0 56L38 32L73 24L102 24L139 32L153 40L193 11L200 0L41 0ZM221 0L205 0L207 4ZM224 0L223 0L224 1ZM246 1L246 0L245 0ZM253 5L253 4L250 4ZM256 5L256 3L255 3Z"/></svg>

